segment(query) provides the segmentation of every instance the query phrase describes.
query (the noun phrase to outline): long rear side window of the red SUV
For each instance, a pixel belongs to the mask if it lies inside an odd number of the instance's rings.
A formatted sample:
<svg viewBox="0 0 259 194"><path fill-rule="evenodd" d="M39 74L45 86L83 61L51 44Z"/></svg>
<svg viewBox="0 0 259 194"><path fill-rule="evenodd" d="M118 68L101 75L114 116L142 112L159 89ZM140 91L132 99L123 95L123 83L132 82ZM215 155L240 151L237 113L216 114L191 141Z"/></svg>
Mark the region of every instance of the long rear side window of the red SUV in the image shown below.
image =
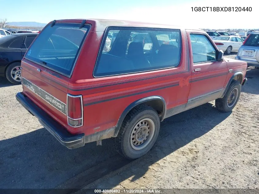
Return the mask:
<svg viewBox="0 0 259 194"><path fill-rule="evenodd" d="M110 27L93 75L102 77L177 67L180 58L179 29Z"/></svg>

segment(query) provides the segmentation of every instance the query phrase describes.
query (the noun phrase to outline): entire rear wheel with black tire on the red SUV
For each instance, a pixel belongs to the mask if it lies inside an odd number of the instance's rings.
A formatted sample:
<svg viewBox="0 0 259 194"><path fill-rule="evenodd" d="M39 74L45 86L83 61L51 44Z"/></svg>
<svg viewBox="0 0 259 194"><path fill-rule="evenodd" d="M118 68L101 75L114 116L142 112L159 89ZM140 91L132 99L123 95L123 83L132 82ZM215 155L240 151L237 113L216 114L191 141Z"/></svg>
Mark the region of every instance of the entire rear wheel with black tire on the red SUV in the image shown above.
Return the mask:
<svg viewBox="0 0 259 194"><path fill-rule="evenodd" d="M160 128L160 120L154 108L138 105L125 117L119 134L113 138L116 151L128 159L146 154L154 145Z"/></svg>

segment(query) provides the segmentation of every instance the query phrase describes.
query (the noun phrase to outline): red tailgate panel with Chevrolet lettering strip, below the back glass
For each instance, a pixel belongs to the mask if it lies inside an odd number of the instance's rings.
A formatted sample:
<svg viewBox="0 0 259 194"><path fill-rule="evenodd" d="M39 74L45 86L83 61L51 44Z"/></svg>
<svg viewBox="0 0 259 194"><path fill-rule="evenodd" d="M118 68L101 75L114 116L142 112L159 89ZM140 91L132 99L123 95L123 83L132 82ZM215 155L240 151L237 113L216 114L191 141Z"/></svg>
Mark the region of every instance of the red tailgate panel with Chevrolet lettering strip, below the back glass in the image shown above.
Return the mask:
<svg viewBox="0 0 259 194"><path fill-rule="evenodd" d="M66 127L68 78L27 59L21 67L23 93Z"/></svg>

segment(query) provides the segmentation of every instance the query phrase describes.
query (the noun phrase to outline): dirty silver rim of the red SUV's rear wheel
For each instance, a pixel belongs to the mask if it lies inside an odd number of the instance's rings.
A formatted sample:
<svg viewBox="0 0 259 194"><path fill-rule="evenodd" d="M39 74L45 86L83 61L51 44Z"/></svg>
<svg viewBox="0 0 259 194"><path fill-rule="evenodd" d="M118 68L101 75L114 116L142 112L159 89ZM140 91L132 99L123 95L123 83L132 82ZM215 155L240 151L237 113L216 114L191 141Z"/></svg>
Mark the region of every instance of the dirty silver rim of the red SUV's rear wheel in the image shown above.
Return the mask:
<svg viewBox="0 0 259 194"><path fill-rule="evenodd" d="M134 150L142 150L151 141L155 132L154 121L145 118L140 120L133 127L130 135L130 144Z"/></svg>

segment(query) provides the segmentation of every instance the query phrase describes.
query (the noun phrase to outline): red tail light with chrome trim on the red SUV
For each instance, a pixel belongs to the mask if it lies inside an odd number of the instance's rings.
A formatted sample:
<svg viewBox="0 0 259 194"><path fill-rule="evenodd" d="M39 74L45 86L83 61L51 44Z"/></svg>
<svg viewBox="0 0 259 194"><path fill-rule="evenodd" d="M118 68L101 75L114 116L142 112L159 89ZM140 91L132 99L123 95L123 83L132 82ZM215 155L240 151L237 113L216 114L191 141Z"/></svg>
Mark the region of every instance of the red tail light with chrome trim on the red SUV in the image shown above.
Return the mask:
<svg viewBox="0 0 259 194"><path fill-rule="evenodd" d="M67 124L71 127L83 126L83 98L82 95L67 94Z"/></svg>

